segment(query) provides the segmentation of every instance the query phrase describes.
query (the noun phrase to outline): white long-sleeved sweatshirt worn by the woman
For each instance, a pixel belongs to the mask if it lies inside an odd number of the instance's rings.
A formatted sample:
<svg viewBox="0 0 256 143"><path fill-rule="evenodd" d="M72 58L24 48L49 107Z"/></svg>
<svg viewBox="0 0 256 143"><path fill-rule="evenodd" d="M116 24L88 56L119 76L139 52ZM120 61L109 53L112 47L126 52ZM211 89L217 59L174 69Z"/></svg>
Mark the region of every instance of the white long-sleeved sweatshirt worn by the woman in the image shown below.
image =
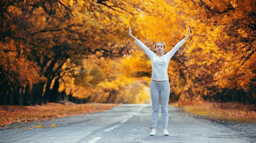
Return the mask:
<svg viewBox="0 0 256 143"><path fill-rule="evenodd" d="M157 56L156 53L148 49L143 42L141 42L139 39L136 39L135 42L144 50L144 52L148 55L151 67L152 67L152 77L151 79L155 81L167 81L169 80L167 69L169 65L169 61L172 58L172 56L176 53L176 51L180 48L181 45L183 45L186 40L182 39L180 42L175 45L172 50L164 54L163 56Z"/></svg>

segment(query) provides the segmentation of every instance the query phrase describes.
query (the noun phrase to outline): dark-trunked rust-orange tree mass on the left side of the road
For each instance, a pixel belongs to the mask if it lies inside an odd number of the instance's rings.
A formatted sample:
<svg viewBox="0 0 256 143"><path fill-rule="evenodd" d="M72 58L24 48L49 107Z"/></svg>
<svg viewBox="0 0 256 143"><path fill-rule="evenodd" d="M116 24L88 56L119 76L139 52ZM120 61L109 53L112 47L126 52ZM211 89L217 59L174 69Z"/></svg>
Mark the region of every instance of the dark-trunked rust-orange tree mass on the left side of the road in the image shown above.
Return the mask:
<svg viewBox="0 0 256 143"><path fill-rule="evenodd" d="M106 0L1 1L0 70L1 87L6 87L1 104L41 104L42 98L56 102L61 73L81 67L81 59L127 53L123 27L131 14L127 9L136 10L135 5ZM63 69L68 59L75 66Z"/></svg>

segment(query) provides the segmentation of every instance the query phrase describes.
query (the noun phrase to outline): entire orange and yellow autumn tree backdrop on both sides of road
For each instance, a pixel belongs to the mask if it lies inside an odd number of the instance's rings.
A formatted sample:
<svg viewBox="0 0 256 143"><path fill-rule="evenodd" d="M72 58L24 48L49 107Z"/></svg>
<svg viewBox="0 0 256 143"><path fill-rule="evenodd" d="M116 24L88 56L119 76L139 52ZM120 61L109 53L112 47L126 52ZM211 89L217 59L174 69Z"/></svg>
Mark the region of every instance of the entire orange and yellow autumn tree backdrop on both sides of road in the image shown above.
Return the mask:
<svg viewBox="0 0 256 143"><path fill-rule="evenodd" d="M159 41L171 50L191 29L169 63L170 97L180 105L256 105L255 0L3 0L0 7L0 104L144 103L151 65L128 36L131 26L153 51Z"/></svg>

